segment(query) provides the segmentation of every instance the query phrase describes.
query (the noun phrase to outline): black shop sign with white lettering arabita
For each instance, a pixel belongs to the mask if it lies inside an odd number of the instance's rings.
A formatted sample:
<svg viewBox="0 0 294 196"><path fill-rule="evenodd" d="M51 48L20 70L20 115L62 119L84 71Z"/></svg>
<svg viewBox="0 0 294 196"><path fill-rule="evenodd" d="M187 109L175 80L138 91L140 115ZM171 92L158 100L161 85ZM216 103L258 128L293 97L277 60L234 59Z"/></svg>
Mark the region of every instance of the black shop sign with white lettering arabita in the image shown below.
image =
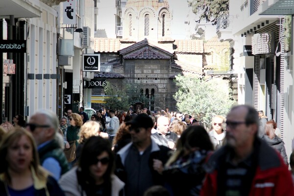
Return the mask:
<svg viewBox="0 0 294 196"><path fill-rule="evenodd" d="M0 52L26 52L26 40L0 40Z"/></svg>

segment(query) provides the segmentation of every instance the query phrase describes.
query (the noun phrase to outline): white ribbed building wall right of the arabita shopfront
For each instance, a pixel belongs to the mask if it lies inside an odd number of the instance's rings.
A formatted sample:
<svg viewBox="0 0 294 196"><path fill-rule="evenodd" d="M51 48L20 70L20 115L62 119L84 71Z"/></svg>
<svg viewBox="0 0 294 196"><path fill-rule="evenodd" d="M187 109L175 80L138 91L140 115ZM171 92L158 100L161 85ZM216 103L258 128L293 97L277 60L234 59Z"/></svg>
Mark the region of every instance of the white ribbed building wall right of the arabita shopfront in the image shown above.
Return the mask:
<svg viewBox="0 0 294 196"><path fill-rule="evenodd" d="M25 89L29 116L39 109L56 112L56 79L44 79L44 74L56 75L57 17L57 12L45 3L39 0L30 2L42 10L42 16L27 20L29 34L26 72L34 74L34 79L27 79ZM36 79L36 74L41 75L42 79Z"/></svg>

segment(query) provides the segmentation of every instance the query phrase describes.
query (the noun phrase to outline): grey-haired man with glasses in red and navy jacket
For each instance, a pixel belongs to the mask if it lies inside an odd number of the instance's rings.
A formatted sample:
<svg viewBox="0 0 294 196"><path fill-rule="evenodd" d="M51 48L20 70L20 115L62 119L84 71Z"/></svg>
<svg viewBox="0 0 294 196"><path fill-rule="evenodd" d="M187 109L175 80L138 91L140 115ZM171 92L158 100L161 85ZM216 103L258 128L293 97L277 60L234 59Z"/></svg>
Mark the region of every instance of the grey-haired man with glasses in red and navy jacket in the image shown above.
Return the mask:
<svg viewBox="0 0 294 196"><path fill-rule="evenodd" d="M293 196L287 166L257 136L257 111L238 105L226 119L226 145L205 164L207 176L200 196Z"/></svg>

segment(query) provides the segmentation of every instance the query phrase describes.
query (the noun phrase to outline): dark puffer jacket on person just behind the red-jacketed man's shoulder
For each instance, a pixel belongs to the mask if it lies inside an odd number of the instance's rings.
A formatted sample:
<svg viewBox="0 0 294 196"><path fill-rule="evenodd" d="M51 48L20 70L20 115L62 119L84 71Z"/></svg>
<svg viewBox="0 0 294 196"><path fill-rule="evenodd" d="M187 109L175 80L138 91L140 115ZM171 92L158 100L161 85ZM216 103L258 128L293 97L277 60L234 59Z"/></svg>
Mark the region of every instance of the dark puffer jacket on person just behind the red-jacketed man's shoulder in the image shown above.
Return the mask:
<svg viewBox="0 0 294 196"><path fill-rule="evenodd" d="M270 145L271 147L273 147L274 149L276 149L278 152L280 152L283 160L284 160L284 163L286 165L289 165L288 163L288 157L287 157L287 154L286 154L286 149L285 149L285 146L284 146L284 142L281 138L279 138L278 136L275 135L274 138L270 139L269 136L267 135L263 135L262 136L262 139L268 144Z"/></svg>

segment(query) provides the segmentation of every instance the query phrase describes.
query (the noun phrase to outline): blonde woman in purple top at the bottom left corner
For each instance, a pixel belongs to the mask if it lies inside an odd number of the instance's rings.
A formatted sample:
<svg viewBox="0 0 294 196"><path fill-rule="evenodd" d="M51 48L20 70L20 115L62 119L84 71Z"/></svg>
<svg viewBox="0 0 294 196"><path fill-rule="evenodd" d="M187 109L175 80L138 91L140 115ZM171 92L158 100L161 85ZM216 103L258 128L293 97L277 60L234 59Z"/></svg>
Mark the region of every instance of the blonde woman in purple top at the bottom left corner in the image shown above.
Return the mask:
<svg viewBox="0 0 294 196"><path fill-rule="evenodd" d="M0 144L1 196L64 196L56 180L39 164L29 131L17 127Z"/></svg>

